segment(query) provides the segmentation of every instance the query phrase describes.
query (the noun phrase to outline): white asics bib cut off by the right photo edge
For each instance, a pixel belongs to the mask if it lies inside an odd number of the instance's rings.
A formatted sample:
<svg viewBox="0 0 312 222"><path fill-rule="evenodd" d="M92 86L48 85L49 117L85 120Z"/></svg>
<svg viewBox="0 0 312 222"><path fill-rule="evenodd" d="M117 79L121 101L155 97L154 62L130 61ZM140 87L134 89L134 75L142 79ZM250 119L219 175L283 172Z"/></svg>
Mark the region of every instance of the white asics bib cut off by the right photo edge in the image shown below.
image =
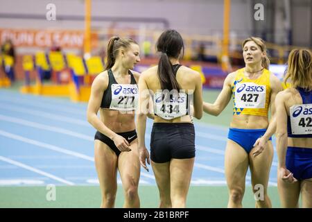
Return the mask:
<svg viewBox="0 0 312 222"><path fill-rule="evenodd" d="M289 114L294 135L312 134L312 104L293 105Z"/></svg>

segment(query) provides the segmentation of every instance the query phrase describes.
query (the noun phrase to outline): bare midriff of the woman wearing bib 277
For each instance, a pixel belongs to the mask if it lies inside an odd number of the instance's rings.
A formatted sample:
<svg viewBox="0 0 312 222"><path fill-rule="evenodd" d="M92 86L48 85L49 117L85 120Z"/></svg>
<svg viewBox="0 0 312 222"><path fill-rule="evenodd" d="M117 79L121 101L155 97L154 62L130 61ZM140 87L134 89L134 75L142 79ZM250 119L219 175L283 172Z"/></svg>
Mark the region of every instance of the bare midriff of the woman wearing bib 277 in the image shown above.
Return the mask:
<svg viewBox="0 0 312 222"><path fill-rule="evenodd" d="M101 121L115 133L135 130L135 111L100 109Z"/></svg>

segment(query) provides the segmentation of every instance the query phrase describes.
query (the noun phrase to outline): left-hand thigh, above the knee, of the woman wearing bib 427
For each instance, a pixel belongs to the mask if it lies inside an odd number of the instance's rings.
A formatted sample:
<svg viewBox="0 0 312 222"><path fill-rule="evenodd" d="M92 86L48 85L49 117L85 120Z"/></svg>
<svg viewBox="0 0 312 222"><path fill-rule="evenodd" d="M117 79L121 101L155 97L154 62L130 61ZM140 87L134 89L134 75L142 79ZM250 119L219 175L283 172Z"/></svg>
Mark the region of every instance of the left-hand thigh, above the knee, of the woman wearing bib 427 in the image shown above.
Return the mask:
<svg viewBox="0 0 312 222"><path fill-rule="evenodd" d="M245 189L245 176L248 171L248 153L236 142L227 139L225 149L225 177L229 189Z"/></svg>

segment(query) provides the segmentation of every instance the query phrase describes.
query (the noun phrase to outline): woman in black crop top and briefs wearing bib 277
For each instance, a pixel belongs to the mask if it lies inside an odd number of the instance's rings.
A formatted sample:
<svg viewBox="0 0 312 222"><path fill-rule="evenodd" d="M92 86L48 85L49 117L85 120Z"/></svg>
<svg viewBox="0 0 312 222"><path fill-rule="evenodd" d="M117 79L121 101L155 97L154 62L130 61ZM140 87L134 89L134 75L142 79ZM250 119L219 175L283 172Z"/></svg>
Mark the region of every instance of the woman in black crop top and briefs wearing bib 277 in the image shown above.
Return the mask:
<svg viewBox="0 0 312 222"><path fill-rule="evenodd" d="M134 40L112 37L107 46L105 71L92 83L87 119L98 130L94 137L94 159L102 193L101 207L114 207L117 169L125 195L123 207L140 206L134 112L139 74L130 71L139 61L139 46Z"/></svg>

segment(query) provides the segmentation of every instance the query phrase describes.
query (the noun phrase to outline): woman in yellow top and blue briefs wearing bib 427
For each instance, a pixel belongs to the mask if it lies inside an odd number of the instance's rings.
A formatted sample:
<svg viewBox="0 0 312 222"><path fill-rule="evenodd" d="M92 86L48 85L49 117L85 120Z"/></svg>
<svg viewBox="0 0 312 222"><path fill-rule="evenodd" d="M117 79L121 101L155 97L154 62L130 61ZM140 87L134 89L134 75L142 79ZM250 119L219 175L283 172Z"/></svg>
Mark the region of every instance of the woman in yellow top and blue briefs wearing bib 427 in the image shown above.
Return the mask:
<svg viewBox="0 0 312 222"><path fill-rule="evenodd" d="M225 78L223 89L214 102L204 103L204 111L218 116L233 99L233 118L225 151L225 177L229 189L227 207L242 207L245 176L250 167L252 191L263 191L256 207L272 207L268 179L273 157L271 136L275 133L275 96L282 90L279 79L268 71L270 60L266 45L259 37L243 44L245 68ZM268 108L272 117L268 121Z"/></svg>

